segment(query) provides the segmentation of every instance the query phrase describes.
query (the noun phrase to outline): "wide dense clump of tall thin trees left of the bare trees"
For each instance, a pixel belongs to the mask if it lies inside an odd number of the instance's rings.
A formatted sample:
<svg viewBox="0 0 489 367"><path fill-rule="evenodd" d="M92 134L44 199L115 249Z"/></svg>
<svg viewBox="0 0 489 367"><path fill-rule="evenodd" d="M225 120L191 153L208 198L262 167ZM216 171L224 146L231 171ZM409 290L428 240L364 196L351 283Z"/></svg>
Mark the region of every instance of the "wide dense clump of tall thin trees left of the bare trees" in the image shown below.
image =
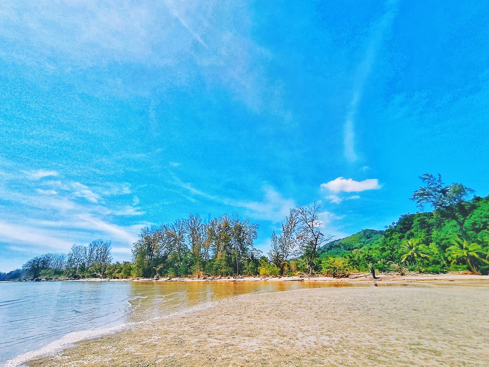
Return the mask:
<svg viewBox="0 0 489 367"><path fill-rule="evenodd" d="M256 274L258 225L238 215L204 221L199 214L141 229L133 248L138 277Z"/></svg>

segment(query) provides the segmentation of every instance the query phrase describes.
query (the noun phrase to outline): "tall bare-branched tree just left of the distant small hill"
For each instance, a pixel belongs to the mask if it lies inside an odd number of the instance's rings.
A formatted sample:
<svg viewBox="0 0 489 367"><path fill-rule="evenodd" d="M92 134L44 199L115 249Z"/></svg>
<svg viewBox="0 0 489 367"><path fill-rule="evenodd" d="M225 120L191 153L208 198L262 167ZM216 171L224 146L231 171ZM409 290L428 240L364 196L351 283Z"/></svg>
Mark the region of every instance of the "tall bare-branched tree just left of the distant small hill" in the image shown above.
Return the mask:
<svg viewBox="0 0 489 367"><path fill-rule="evenodd" d="M317 258L317 248L324 241L328 242L332 236L325 237L321 232L323 223L319 220L321 206L316 202L312 206L297 206L297 240L307 262L309 274L314 270L314 259Z"/></svg>

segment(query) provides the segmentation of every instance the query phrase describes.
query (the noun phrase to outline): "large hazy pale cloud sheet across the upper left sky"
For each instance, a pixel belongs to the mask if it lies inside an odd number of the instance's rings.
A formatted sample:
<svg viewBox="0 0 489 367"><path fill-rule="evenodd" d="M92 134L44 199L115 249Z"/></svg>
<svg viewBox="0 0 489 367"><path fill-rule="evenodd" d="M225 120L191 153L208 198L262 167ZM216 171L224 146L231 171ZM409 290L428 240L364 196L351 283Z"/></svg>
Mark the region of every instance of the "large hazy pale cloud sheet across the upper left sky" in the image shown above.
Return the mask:
<svg viewBox="0 0 489 367"><path fill-rule="evenodd" d="M283 81L267 73L273 55L253 41L246 3L4 2L0 32L7 46L0 57L12 63L60 73L124 64L134 68L137 81L120 78L114 67L103 70L103 86L87 78L77 87L93 94L147 96L197 79L224 87L256 113L292 118ZM162 81L155 75L172 77Z"/></svg>

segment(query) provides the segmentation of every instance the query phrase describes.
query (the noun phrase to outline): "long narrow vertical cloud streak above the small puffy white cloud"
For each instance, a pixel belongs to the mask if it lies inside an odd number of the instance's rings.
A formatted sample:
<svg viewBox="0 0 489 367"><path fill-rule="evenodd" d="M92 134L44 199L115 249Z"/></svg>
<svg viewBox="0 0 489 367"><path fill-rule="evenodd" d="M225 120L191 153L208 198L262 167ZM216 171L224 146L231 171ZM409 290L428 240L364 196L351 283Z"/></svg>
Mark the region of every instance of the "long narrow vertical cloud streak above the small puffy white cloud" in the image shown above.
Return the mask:
<svg viewBox="0 0 489 367"><path fill-rule="evenodd" d="M345 117L343 127L343 154L346 160L351 163L358 159L355 148L355 119L358 104L361 100L365 82L375 64L378 49L396 16L398 1L387 1L386 7L387 11L370 27L370 35L366 43L365 54L356 69L353 95Z"/></svg>

